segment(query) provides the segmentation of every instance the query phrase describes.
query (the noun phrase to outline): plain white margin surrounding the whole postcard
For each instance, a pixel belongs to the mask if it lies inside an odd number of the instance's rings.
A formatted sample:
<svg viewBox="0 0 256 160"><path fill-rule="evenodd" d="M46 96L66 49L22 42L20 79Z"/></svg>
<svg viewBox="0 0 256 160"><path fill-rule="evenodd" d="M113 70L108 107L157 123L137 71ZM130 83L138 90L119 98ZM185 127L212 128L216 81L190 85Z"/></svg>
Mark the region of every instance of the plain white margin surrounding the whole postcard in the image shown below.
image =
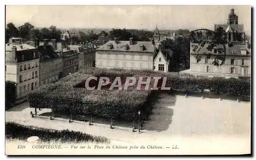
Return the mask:
<svg viewBox="0 0 256 160"><path fill-rule="evenodd" d="M197 0L194 0L194 1L172 1L171 3L170 2L165 2L165 1L153 1L153 0L146 0L146 1L143 1L143 2L138 2L136 0L129 0L129 1L105 1L105 0L94 0L94 1L89 1L89 2L77 2L77 1L67 1L67 0L62 0L62 1L49 1L49 0L44 0L44 1L28 1L28 0L24 0L24 1L17 1L17 0L12 0L12 1L8 1L8 2L5 2L5 1L1 1L1 20L0 22L1 23L1 27L3 27L3 32L5 30L5 6L4 5L252 5L252 6L256 6L255 5L255 1L249 1L249 0L243 0L243 1L223 1L223 0L215 0L215 1L197 1ZM254 24L254 20L255 20L255 17L253 17L253 24ZM254 29L254 28L253 28ZM252 30L253 30L252 29ZM251 35L254 37L254 33L253 35ZM1 77L2 77L2 83L1 83L1 88L2 90L4 90L5 86L4 86L4 75L5 75L5 71L4 71L4 64L5 61L5 55L4 55L4 43L5 43L5 36L2 36L1 38L1 66L0 67L0 71L1 71ZM254 48L254 44L253 44L253 48ZM252 53L253 54L253 53ZM253 61L255 62L255 57L256 56L253 56ZM252 70L253 71L253 70ZM254 73L253 73L254 75ZM254 83L255 85L255 83ZM5 97L5 93L2 91L0 92L1 93L1 100L2 100L2 109L3 111L1 112L2 114L2 123L1 123L1 128L2 130L5 128L5 112L4 112L4 97ZM253 99L254 97L252 97ZM255 110L255 109L254 109ZM253 112L254 113L254 112ZM254 116L254 114L252 114ZM255 125L255 123L253 123ZM4 155L4 149L5 149L5 139L4 139L4 136L5 136L5 132L1 132L1 143L2 143L2 154L1 154L1 159L2 158L7 158L7 156ZM255 147L254 147L255 148ZM15 157L15 158L18 158L18 157ZM25 157L27 158L27 157ZM39 157L32 157L32 158L39 158ZM65 157L60 157L60 158L65 158ZM68 157L69 158L69 157ZM84 158L84 157L81 157L81 158ZM85 157L85 158L90 158L90 157ZM111 158L111 157L110 157ZM118 157L119 158L119 157ZM131 158L136 158L136 159L143 159L144 157L131 157ZM156 158L159 158L159 157L156 157ZM166 157L166 158L169 158L169 157ZM174 157L170 157L170 158L174 158ZM197 157L196 157L197 158ZM221 158L221 157L217 157L218 159Z"/></svg>

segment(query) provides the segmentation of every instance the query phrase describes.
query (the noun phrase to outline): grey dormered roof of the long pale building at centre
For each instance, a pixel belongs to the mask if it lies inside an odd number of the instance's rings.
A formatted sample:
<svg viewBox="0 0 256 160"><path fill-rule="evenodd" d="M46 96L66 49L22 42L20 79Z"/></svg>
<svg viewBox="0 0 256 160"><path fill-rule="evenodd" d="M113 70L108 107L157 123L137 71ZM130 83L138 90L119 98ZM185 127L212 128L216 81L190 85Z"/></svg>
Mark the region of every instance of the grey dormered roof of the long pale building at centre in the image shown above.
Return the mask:
<svg viewBox="0 0 256 160"><path fill-rule="evenodd" d="M108 44L113 44L113 49L108 50ZM123 45L129 44L129 41L118 41L115 44L114 40L108 41L103 45L100 45L96 51L122 51L122 52L154 52L155 46L150 41L135 41L133 45L129 45L128 50L123 50ZM140 51L140 46L144 45L144 51Z"/></svg>

